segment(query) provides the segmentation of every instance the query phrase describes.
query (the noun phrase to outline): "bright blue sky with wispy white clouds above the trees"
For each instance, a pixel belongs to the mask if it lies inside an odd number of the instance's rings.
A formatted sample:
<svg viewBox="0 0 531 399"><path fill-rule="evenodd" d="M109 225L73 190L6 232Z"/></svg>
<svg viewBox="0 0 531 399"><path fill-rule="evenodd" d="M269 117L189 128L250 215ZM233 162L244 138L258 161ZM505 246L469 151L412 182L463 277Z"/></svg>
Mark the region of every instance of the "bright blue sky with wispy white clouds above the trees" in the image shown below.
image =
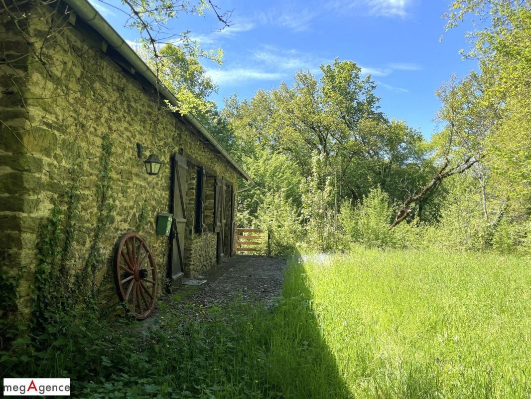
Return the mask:
<svg viewBox="0 0 531 399"><path fill-rule="evenodd" d="M123 27L123 14L91 0L126 39L138 32ZM109 4L119 4L108 0ZM223 98L237 93L251 98L258 89L288 84L299 69L319 75L319 65L336 57L352 60L378 85L381 109L403 119L430 138L439 101L435 90L452 73L464 76L474 61L461 59L468 48L464 28L444 34L442 14L450 0L216 0L221 10L234 10L232 26L218 31L213 13L180 16L175 34L190 30L204 49L221 48L224 63L203 62Z"/></svg>

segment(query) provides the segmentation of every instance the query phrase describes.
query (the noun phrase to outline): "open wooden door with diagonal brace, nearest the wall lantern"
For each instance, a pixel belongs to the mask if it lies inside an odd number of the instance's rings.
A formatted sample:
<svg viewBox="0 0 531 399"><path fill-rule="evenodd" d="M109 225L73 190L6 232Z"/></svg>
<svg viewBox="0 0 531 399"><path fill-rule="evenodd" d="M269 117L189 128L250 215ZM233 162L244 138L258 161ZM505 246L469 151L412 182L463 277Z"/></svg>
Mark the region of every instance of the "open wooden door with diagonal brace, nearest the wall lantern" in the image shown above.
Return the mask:
<svg viewBox="0 0 531 399"><path fill-rule="evenodd" d="M184 275L184 232L186 228L186 158L175 153L173 163L173 221L172 285L178 285Z"/></svg>

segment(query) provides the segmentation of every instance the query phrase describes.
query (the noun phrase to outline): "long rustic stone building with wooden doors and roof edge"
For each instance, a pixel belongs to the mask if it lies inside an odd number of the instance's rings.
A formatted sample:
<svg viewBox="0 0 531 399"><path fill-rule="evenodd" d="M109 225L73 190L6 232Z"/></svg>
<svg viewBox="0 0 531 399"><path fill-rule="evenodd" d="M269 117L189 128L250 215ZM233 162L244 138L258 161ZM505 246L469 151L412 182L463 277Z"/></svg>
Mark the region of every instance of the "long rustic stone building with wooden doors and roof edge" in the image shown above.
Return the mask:
<svg viewBox="0 0 531 399"><path fill-rule="evenodd" d="M193 115L159 109L177 98L87 0L14 3L0 11L0 313L29 314L54 275L100 305L122 287L146 307L147 281L158 295L232 255L249 180L233 157ZM169 237L159 213L174 215ZM145 242L118 248L131 231Z"/></svg>

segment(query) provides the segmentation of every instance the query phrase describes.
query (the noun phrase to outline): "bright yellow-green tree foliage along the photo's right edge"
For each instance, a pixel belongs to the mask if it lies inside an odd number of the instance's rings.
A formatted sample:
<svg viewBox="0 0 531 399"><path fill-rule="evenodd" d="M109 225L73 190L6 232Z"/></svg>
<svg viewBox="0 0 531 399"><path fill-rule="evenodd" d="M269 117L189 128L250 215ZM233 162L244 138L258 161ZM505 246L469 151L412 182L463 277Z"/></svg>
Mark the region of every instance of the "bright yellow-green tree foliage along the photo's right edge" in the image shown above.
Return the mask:
<svg viewBox="0 0 531 399"><path fill-rule="evenodd" d="M481 73L474 80L481 85L474 84L470 91L467 89L470 79L466 79L455 91L463 92L463 103L473 104L473 112L466 107L463 118L479 128L488 128L481 143L486 154L484 174L490 185L487 197L498 197L503 202L504 218L509 224L523 225L529 217L531 198L531 113L527 95L531 90L529 3L457 0L447 14L447 28L458 26L470 15L477 15L479 21L475 31L467 35L473 47L465 55L478 59ZM488 219L488 210L484 214Z"/></svg>

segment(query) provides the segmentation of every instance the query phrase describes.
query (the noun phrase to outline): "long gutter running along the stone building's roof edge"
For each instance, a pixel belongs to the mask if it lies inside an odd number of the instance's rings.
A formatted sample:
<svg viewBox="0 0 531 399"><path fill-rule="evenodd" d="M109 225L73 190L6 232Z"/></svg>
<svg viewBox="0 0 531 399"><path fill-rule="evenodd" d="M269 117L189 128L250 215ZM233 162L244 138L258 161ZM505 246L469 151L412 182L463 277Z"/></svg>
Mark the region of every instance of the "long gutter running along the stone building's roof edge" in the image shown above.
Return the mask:
<svg viewBox="0 0 531 399"><path fill-rule="evenodd" d="M118 53L120 53L145 79L147 79L153 86L157 87L157 76L149 68L148 65L139 57L138 54L126 43L126 41L114 30L112 26L100 15L98 11L87 0L63 0L70 6L76 14L92 28L94 28ZM158 85L159 93L166 97L170 104L178 106L177 97L170 92L162 84ZM214 136L203 126L203 124L192 114L184 114L183 118L198 129L201 134L212 144L219 153L242 175L242 177L251 181L249 174L247 174L240 165L229 155L227 150L216 140Z"/></svg>

